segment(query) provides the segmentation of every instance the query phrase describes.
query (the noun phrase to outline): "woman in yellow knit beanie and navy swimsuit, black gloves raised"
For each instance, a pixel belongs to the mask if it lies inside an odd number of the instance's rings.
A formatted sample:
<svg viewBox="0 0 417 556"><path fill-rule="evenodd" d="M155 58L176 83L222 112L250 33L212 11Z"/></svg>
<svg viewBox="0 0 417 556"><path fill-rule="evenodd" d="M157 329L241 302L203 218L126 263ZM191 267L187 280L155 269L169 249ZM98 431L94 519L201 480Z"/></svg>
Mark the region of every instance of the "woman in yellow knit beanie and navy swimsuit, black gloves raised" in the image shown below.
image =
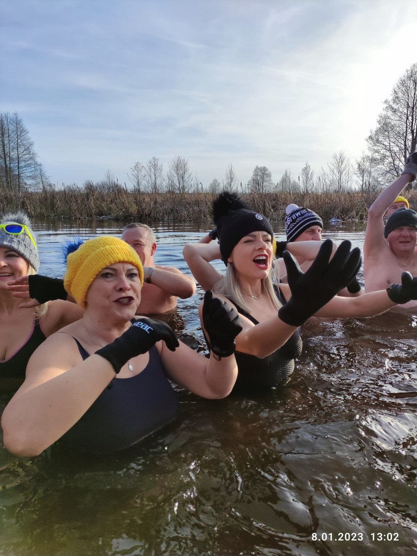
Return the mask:
<svg viewBox="0 0 417 556"><path fill-rule="evenodd" d="M3 413L6 448L32 456L63 437L77 450L112 452L175 418L170 380L204 398L229 394L242 330L230 305L205 296L204 326L215 346L207 359L165 323L135 316L143 268L127 243L103 236L67 251L64 284L84 315L33 354Z"/></svg>

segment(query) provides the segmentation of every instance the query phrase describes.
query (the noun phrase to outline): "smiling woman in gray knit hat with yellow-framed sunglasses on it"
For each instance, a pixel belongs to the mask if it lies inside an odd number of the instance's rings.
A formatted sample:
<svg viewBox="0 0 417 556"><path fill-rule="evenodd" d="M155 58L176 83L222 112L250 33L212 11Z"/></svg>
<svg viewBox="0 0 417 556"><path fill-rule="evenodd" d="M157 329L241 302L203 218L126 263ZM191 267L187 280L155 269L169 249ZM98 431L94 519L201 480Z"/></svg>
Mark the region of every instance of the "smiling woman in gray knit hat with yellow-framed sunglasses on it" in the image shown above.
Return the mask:
<svg viewBox="0 0 417 556"><path fill-rule="evenodd" d="M39 255L32 224L24 212L0 218L0 393L23 383L26 365L36 348L53 332L81 316L67 301L33 307L13 296L8 282L36 274ZM23 305L23 306L22 306Z"/></svg>

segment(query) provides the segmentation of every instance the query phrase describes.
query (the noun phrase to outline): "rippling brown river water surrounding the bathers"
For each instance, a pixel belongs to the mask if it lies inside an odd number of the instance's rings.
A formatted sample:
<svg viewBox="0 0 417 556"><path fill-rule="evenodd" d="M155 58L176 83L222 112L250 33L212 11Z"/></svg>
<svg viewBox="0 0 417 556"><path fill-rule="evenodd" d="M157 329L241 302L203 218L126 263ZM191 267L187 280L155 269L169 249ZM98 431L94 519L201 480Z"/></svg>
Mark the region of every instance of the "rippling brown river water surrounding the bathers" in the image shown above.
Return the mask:
<svg viewBox="0 0 417 556"><path fill-rule="evenodd" d="M122 227L59 226L38 232L45 274L62 273L65 237ZM155 227L157 262L188 272L182 246L202 232ZM331 234L363 242L354 225ZM199 297L179 300L173 323L195 347ZM284 389L220 401L179 390L176 423L105 458L2 448L0 554L417 553L416 330L400 314L314 319Z"/></svg>

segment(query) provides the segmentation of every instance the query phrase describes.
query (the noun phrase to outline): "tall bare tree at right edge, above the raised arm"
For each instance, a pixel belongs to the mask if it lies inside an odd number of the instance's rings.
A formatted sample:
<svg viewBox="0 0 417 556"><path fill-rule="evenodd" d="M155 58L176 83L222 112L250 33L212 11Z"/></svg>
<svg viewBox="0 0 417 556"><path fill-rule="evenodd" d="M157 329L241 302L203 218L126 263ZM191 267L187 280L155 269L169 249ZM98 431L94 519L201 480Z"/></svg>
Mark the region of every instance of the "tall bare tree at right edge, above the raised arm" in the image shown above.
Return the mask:
<svg viewBox="0 0 417 556"><path fill-rule="evenodd" d="M400 175L417 146L417 63L414 63L384 101L375 130L366 139L381 183Z"/></svg>

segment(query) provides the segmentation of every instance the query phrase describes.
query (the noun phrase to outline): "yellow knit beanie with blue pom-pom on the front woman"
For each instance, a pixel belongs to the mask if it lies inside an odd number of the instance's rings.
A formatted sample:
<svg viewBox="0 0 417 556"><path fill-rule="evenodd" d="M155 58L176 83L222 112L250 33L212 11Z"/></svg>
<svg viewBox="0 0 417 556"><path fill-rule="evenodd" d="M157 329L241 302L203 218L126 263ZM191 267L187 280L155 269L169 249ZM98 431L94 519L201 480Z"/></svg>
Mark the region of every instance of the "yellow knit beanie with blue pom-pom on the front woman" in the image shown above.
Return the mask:
<svg viewBox="0 0 417 556"><path fill-rule="evenodd" d="M143 267L137 252L125 241L112 236L95 237L85 241L67 256L64 287L77 301L86 306L88 288L98 273L115 262L131 262L138 269L143 285Z"/></svg>

